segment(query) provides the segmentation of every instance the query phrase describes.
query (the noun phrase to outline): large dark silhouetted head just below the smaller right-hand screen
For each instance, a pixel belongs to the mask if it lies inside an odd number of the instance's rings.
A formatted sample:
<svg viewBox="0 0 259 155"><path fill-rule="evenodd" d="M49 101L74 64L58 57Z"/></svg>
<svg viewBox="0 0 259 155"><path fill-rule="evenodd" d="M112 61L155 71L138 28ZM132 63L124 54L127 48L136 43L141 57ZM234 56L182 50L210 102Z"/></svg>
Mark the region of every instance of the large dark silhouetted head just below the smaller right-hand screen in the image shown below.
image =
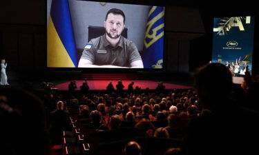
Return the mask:
<svg viewBox="0 0 259 155"><path fill-rule="evenodd" d="M194 87L204 107L213 109L215 103L229 101L232 90L232 74L221 63L209 63L195 72Z"/></svg>

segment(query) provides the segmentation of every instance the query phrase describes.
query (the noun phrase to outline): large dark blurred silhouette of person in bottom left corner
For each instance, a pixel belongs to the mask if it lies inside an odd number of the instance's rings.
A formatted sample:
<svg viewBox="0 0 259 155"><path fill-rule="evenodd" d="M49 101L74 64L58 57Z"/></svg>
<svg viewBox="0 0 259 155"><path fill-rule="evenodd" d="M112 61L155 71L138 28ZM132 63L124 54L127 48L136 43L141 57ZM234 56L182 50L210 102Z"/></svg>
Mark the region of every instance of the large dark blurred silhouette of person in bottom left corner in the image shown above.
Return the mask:
<svg viewBox="0 0 259 155"><path fill-rule="evenodd" d="M0 154L50 154L44 103L34 94L0 87L0 123Z"/></svg>

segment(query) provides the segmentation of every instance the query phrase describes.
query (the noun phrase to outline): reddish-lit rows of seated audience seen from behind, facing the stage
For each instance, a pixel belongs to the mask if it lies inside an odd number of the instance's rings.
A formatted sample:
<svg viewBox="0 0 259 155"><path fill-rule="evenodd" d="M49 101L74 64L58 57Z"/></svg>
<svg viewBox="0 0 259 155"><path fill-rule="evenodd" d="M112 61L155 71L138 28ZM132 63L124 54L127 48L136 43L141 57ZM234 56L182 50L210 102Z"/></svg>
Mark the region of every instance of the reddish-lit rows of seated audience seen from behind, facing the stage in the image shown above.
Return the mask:
<svg viewBox="0 0 259 155"><path fill-rule="evenodd" d="M191 118L199 116L202 112L202 105L194 90L173 90L167 95L156 93L139 95L124 93L122 96L116 96L114 93L78 94L77 97L69 96L67 99L62 93L48 95L50 95L48 102L52 105L50 108L55 107L53 105L57 102L57 110L48 110L50 133L55 133L51 134L53 135L52 144L62 142L60 127L63 127L63 130L70 130L68 124L61 124L64 120L70 122L67 114L69 113L75 126L82 134L88 136L88 142L92 148L99 143L132 141L136 137L157 137L157 141L164 140L159 138L178 139L180 147L186 132L186 125ZM47 98L46 95L45 98ZM60 108L60 103L66 108ZM62 114L59 112L60 122L55 123L57 116L54 114L60 109L66 112ZM60 126L58 130L57 124ZM96 142L98 138L99 141ZM134 141L134 143L137 142ZM146 149L143 144L137 143L137 145Z"/></svg>

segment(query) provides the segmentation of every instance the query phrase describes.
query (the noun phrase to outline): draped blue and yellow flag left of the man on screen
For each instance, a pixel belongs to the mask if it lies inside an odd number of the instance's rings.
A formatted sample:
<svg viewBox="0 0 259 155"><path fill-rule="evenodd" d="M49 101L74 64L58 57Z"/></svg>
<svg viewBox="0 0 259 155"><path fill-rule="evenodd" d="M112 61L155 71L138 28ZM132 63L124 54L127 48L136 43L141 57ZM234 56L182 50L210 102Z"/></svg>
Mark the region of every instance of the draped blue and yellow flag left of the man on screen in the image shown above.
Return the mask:
<svg viewBox="0 0 259 155"><path fill-rule="evenodd" d="M52 0L47 36L47 67L77 67L68 0Z"/></svg>

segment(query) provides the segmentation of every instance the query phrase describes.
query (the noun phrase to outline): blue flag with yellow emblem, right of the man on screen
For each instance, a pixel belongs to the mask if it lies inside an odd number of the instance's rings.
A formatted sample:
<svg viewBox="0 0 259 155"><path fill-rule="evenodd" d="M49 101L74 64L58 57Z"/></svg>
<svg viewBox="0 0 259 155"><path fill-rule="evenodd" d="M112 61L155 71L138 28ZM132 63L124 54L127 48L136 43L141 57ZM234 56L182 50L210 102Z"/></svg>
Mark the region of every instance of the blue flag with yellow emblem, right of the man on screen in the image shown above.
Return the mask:
<svg viewBox="0 0 259 155"><path fill-rule="evenodd" d="M152 6L148 13L143 49L144 68L162 68L164 50L164 7Z"/></svg>

